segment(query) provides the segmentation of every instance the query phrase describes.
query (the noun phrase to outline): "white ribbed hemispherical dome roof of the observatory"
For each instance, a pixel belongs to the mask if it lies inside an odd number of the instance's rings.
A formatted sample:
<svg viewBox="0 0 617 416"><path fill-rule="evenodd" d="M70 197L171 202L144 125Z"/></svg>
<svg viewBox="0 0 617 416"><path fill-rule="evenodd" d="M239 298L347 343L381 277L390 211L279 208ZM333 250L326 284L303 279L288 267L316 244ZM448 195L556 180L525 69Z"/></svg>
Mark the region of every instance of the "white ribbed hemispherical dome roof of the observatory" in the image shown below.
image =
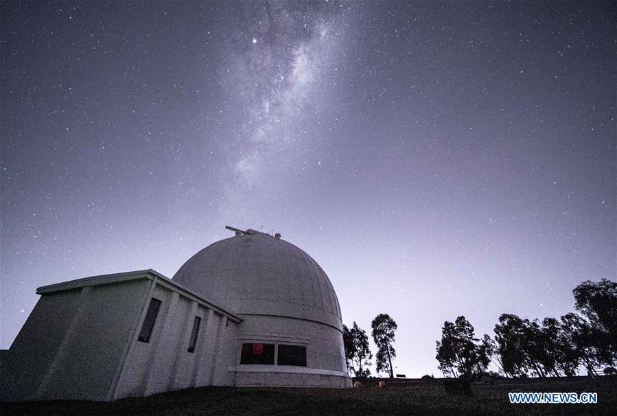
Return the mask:
<svg viewBox="0 0 617 416"><path fill-rule="evenodd" d="M342 331L338 299L322 268L268 234L249 230L215 242L191 257L174 281L240 315L288 316Z"/></svg>

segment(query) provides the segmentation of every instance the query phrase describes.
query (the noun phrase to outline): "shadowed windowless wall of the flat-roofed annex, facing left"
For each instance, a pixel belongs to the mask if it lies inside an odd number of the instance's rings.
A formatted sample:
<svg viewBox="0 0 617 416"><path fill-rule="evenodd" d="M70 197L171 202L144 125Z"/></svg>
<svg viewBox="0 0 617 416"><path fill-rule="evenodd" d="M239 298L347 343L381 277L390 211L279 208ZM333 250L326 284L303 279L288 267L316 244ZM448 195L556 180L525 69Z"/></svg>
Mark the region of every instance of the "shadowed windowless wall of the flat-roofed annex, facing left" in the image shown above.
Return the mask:
<svg viewBox="0 0 617 416"><path fill-rule="evenodd" d="M44 294L3 366L3 400L108 400L145 279Z"/></svg>

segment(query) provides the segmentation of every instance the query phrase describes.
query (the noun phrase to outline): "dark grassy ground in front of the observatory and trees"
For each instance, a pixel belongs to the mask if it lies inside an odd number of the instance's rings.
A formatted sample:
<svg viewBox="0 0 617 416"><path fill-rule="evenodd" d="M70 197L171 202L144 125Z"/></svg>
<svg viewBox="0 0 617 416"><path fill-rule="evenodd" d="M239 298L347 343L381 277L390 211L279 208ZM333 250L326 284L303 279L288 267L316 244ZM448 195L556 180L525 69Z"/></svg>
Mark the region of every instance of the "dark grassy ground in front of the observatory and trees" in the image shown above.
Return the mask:
<svg viewBox="0 0 617 416"><path fill-rule="evenodd" d="M361 382L360 389L204 387L113 403L5 403L0 415L617 415L617 377L474 382L471 395L448 393L439 379ZM597 392L598 404L514 405L510 391Z"/></svg>

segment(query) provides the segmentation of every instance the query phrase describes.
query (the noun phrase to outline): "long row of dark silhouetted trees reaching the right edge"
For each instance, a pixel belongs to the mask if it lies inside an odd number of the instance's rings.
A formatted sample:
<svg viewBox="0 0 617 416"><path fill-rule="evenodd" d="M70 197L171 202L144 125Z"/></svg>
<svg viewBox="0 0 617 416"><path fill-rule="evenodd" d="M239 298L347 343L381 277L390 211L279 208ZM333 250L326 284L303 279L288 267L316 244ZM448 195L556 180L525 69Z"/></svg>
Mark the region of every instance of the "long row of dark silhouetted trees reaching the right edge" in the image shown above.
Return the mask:
<svg viewBox="0 0 617 416"><path fill-rule="evenodd" d="M493 337L476 338L465 316L445 322L436 360L443 375L475 378L494 362L509 377L576 375L583 366L615 373L617 361L617 283L584 281L572 291L574 309L560 319L533 321L502 314Z"/></svg>

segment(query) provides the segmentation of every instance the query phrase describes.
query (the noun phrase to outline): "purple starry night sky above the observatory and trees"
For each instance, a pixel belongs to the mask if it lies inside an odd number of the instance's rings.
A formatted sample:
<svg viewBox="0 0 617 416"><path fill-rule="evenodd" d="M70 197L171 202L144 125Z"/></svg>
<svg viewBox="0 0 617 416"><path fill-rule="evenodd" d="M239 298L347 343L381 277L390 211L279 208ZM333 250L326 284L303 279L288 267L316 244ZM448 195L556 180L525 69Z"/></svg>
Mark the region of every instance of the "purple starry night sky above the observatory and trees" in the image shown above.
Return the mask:
<svg viewBox="0 0 617 416"><path fill-rule="evenodd" d="M440 375L617 277L611 2L0 5L0 347L38 286L280 232ZM263 228L261 228L263 227ZM373 352L375 351L373 346ZM373 360L374 362L374 360Z"/></svg>

